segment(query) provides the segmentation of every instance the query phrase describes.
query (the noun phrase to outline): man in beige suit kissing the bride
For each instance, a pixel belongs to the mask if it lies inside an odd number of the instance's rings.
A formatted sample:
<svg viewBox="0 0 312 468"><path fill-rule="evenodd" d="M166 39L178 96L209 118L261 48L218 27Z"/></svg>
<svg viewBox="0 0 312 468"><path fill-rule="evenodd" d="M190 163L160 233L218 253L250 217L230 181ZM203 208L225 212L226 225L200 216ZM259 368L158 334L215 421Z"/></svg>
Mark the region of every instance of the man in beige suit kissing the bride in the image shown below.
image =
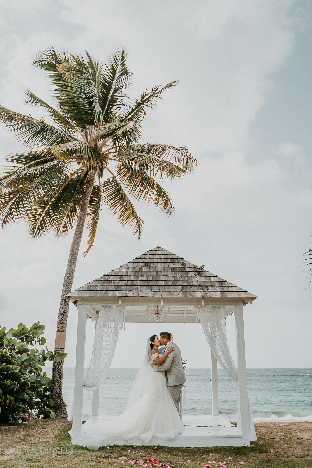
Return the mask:
<svg viewBox="0 0 312 468"><path fill-rule="evenodd" d="M166 371L167 387L174 401L175 407L179 412L180 409L180 395L183 384L185 382L185 373L182 365L182 357L179 346L174 344L171 340L170 333L162 331L160 333L160 343L168 346L173 346L174 351L168 354L165 362L157 366L154 364L154 370L157 372Z"/></svg>

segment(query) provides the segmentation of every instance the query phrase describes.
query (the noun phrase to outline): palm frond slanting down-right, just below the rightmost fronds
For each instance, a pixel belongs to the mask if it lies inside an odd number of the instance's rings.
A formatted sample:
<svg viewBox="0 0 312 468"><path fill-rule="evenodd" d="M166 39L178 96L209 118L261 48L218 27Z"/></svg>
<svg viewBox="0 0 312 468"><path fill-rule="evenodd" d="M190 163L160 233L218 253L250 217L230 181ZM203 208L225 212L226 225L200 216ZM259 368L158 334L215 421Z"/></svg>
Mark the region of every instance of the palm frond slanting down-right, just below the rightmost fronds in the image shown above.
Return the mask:
<svg viewBox="0 0 312 468"><path fill-rule="evenodd" d="M131 197L138 201L154 205L170 216L174 212L174 205L170 195L161 185L143 170L136 171L126 164L116 165L116 177L123 184Z"/></svg>

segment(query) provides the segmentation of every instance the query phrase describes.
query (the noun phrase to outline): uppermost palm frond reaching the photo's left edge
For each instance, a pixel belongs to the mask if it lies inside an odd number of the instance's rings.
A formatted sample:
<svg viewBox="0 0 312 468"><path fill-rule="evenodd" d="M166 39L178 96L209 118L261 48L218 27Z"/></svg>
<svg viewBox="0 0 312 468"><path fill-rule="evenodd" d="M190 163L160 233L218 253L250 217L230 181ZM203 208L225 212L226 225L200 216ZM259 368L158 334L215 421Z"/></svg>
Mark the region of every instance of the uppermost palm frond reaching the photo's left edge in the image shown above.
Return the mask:
<svg viewBox="0 0 312 468"><path fill-rule="evenodd" d="M37 120L2 106L0 106L0 122L5 124L9 130L15 132L24 145L33 148L40 146L48 148L51 145L74 140L66 132L47 124L44 120Z"/></svg>

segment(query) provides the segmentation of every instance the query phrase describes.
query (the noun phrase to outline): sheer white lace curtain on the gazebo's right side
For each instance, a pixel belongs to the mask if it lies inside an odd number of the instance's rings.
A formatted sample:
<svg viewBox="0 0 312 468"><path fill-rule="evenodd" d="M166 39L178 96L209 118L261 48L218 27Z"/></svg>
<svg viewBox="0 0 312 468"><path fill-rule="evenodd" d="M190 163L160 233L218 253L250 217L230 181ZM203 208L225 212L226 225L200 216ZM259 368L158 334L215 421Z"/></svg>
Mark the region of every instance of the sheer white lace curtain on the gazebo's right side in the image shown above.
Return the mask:
<svg viewBox="0 0 312 468"><path fill-rule="evenodd" d="M203 328L203 333L215 358L223 370L235 381L238 381L237 369L227 344L225 334L224 307L194 307ZM248 400L250 440L257 440L254 420Z"/></svg>

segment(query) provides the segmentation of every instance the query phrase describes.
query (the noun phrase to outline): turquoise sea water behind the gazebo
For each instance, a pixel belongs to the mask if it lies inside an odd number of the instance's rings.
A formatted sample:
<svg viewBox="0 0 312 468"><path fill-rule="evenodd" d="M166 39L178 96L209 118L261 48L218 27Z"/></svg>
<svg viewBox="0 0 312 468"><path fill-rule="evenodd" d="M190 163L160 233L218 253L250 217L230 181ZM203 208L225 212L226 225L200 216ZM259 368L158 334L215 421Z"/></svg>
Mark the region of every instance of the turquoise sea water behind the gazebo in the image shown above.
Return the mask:
<svg viewBox="0 0 312 468"><path fill-rule="evenodd" d="M99 414L123 413L136 373L137 369L109 369L100 386ZM73 397L74 374L74 368L64 369L66 404ZM186 369L185 374L187 402L183 413L211 414L210 369ZM247 369L247 384L254 420L312 421L312 368ZM218 390L220 414L236 419L237 387L222 369L218 369ZM84 417L91 412L92 392L85 390Z"/></svg>

